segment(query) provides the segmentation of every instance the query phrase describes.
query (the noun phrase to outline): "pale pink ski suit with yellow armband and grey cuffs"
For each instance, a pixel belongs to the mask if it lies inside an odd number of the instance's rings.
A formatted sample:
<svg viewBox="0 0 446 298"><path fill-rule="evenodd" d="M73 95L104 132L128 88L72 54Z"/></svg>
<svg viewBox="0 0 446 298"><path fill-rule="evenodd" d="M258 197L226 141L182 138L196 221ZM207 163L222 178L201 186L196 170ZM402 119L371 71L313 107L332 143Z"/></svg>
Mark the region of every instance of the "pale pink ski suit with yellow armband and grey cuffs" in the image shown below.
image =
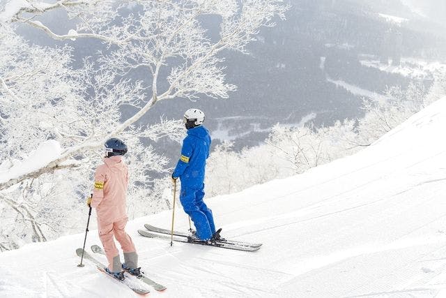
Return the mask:
<svg viewBox="0 0 446 298"><path fill-rule="evenodd" d="M104 158L95 171L95 186L91 207L96 209L100 241L109 262L109 270L120 272L121 260L113 236L121 244L124 262L137 267L137 253L130 236L125 232L128 216L125 207L128 188L128 168L122 156Z"/></svg>

